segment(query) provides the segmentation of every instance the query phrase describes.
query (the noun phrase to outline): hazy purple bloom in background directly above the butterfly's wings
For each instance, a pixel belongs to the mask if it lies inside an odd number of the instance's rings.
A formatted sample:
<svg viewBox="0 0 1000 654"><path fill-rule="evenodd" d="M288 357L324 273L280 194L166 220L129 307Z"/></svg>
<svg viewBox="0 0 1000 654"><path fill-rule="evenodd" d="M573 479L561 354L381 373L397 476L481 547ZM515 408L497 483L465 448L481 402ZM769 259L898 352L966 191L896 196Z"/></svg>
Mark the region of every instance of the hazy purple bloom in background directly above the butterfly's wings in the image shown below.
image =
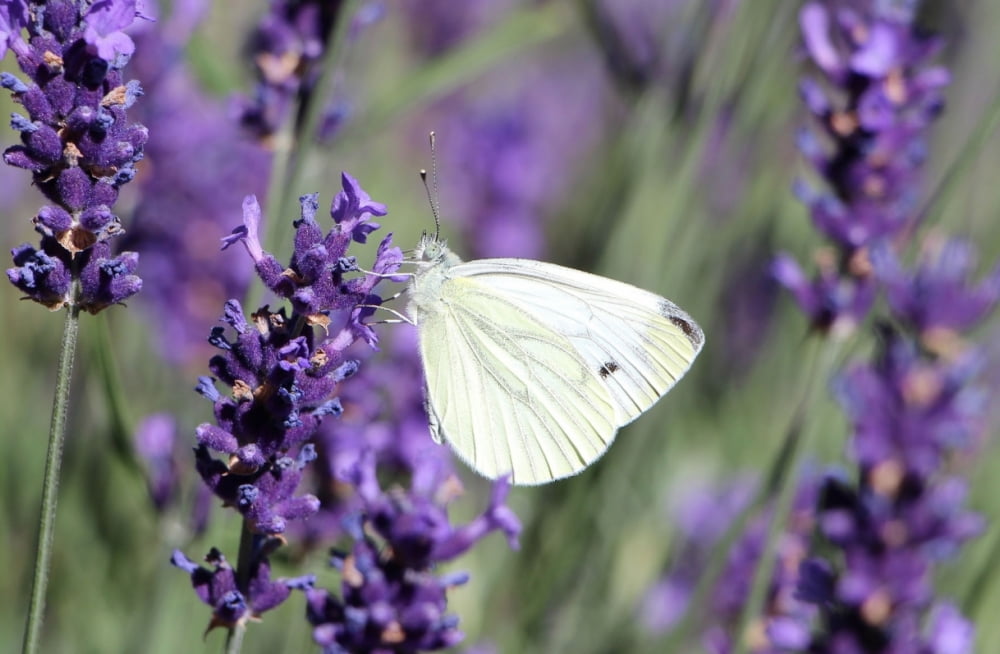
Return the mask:
<svg viewBox="0 0 1000 654"><path fill-rule="evenodd" d="M513 84L457 95L434 110L448 125L438 139L447 217L470 256L545 252L546 218L569 197L602 135L607 90L594 54L574 51L519 72Z"/></svg>

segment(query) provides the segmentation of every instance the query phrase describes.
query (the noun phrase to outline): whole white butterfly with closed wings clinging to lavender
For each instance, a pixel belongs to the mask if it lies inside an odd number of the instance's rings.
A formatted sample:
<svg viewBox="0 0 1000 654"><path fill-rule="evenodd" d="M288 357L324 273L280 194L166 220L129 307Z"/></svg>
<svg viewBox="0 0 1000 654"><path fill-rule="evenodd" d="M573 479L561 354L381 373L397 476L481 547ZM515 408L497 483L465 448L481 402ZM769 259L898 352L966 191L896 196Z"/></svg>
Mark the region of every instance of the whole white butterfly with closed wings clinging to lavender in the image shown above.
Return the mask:
<svg viewBox="0 0 1000 654"><path fill-rule="evenodd" d="M435 440L515 484L576 474L705 342L673 302L530 259L462 262L425 235L409 285Z"/></svg>

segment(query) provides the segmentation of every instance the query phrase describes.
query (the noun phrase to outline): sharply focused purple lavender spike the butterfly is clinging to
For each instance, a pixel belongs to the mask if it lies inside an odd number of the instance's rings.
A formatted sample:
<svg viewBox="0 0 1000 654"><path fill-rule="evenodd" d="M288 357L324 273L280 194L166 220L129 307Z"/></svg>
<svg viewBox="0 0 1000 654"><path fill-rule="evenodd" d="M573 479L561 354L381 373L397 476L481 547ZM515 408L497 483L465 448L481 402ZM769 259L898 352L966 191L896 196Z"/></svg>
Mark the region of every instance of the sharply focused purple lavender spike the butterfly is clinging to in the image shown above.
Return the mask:
<svg viewBox="0 0 1000 654"><path fill-rule="evenodd" d="M368 220L371 215L386 210L346 174L344 186L334 201L336 222L326 236L315 221L316 196L302 198L295 255L287 270L281 270L258 240L260 209L252 198L244 202L243 227L224 241L225 246L242 241L261 278L289 298L293 309L289 315L284 308L271 311L265 306L247 316L239 302L230 300L222 316L229 333L220 326L209 337L220 353L209 362L214 377L203 377L196 390L213 403L215 424L204 423L196 430L195 465L213 494L243 516L252 539L252 557L241 557L236 573L224 561L217 561L216 571L209 574L195 570L182 555L175 557L175 563L180 561L177 564L192 573L202 599L213 606L214 623L232 626L287 597L286 586L267 579L267 556L283 543L277 535L290 523L319 510L317 497L299 493L316 459L310 441L324 418L343 412L335 394L358 370L357 361L347 356L348 348L357 341L374 343L374 333L356 305L380 303L375 285L391 277L402 260L386 237L372 266L374 274L356 272L347 247L377 227ZM353 278L345 277L351 273ZM307 296L309 302L304 301ZM225 394L217 382L228 388ZM216 458L213 452L226 456ZM501 508L495 513L503 514ZM242 585L234 581L245 578L249 581Z"/></svg>

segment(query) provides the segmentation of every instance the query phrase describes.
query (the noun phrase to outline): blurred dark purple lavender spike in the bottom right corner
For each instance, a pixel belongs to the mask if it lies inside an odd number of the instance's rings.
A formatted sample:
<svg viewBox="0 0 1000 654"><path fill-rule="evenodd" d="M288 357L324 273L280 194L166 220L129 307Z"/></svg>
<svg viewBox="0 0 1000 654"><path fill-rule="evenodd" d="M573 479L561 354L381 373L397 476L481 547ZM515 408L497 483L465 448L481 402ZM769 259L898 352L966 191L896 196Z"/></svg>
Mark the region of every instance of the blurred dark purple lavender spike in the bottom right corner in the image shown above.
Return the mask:
<svg viewBox="0 0 1000 654"><path fill-rule="evenodd" d="M978 354L940 359L913 339L887 331L874 364L837 382L859 471L854 483L828 477L817 505L818 533L837 555L812 553L801 569L799 595L823 624L811 651L866 643L972 651L971 624L935 599L932 573L985 527L962 508L965 480L945 473L946 459L974 448L984 427L985 397L973 385Z"/></svg>

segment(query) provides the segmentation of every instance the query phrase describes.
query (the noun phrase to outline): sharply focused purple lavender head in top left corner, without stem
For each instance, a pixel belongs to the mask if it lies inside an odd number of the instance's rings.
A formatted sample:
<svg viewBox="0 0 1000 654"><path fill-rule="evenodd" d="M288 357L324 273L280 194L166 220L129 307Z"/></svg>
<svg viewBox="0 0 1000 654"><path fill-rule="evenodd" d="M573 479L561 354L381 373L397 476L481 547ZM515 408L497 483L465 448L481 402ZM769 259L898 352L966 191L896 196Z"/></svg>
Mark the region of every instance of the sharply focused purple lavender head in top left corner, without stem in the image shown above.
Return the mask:
<svg viewBox="0 0 1000 654"><path fill-rule="evenodd" d="M120 69L127 57L104 58L92 52L87 21L99 20L104 11L115 13L115 20L99 22L102 38L116 39L117 30L134 19L135 5L128 0L55 0L30 2L27 8L34 17L26 25L28 43L20 37L8 43L16 46L18 64L32 83L2 73L0 86L12 93L28 117L13 114L11 127L20 132L21 144L7 148L4 161L30 170L35 186L53 204L34 218L41 246L15 248L17 267L8 269L7 277L27 297L49 308L74 304L97 313L142 286L134 274L138 256L126 252L114 257L107 241L122 232L111 207L119 188L135 176L148 132L129 123L126 115L142 95L138 82L122 80ZM12 4L5 20L19 23L22 10L21 4ZM81 284L78 295L71 297L74 277Z"/></svg>

